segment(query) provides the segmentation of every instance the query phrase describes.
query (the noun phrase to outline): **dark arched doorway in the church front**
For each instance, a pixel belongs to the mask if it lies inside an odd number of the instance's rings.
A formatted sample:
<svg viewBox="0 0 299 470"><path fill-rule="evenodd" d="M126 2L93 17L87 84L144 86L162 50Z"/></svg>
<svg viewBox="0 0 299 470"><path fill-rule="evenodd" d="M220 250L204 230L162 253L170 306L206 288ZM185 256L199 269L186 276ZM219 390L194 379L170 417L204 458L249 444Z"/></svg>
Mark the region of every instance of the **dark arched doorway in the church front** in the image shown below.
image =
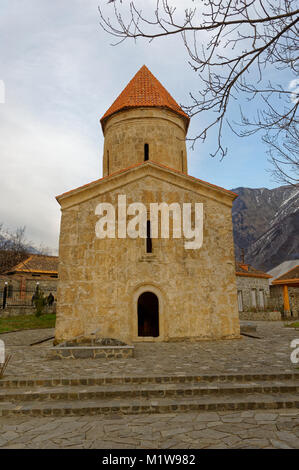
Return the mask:
<svg viewBox="0 0 299 470"><path fill-rule="evenodd" d="M159 336L159 301L152 292L138 298L138 336Z"/></svg>

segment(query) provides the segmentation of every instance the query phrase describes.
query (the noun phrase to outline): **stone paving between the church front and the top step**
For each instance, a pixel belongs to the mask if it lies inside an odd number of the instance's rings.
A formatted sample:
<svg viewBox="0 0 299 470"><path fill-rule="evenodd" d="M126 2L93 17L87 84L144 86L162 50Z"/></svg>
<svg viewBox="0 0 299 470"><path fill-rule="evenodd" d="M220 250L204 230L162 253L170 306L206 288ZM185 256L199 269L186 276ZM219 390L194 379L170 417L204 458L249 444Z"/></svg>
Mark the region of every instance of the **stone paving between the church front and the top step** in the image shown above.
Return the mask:
<svg viewBox="0 0 299 470"><path fill-rule="evenodd" d="M30 343L53 335L54 330L28 330L0 335L13 358L6 376L70 377L99 375L223 374L246 372L290 372L298 369L290 361L290 343L299 331L282 322L255 322L256 336L238 340L197 343L138 343L129 359L49 359L51 341Z"/></svg>

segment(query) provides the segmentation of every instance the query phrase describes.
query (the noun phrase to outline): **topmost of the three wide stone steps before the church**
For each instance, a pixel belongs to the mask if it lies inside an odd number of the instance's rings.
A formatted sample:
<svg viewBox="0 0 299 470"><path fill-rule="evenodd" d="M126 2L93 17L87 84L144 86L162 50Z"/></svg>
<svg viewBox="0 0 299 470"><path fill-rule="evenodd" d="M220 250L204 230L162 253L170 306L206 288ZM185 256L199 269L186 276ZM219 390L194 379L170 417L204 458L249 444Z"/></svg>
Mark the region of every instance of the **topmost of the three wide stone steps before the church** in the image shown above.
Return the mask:
<svg viewBox="0 0 299 470"><path fill-rule="evenodd" d="M7 388L33 387L59 387L59 386L93 386L93 385L120 385L120 384L179 384L197 382L233 382L244 383L251 381L290 381L299 380L299 372L271 373L271 374L204 374L204 375L163 375L163 376L100 376L100 377L19 377L0 380L0 390Z"/></svg>

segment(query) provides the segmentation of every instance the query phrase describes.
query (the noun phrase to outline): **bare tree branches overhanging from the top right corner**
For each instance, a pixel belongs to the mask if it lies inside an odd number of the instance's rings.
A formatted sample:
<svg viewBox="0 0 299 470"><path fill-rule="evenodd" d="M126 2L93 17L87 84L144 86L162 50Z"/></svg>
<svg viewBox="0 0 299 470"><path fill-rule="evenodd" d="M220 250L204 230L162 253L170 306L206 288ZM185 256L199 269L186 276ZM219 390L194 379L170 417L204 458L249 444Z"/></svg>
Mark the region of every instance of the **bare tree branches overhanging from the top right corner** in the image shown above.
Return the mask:
<svg viewBox="0 0 299 470"><path fill-rule="evenodd" d="M101 26L117 39L114 45L129 39L181 37L199 79L197 92L190 92L191 103L183 108L190 116L205 113L200 122L207 122L189 139L192 147L216 127L217 145L211 155L223 158L224 127L242 137L262 131L270 151L278 146L280 157L287 158L286 163L271 159L276 176L282 171L281 177L298 183L292 173L294 168L298 172L298 158L288 161L290 141L298 145L298 1L189 0L190 8L182 11L176 0L157 0L150 13L143 11L140 0L108 3L99 12ZM239 122L230 117L236 103ZM255 110L252 115L249 107Z"/></svg>

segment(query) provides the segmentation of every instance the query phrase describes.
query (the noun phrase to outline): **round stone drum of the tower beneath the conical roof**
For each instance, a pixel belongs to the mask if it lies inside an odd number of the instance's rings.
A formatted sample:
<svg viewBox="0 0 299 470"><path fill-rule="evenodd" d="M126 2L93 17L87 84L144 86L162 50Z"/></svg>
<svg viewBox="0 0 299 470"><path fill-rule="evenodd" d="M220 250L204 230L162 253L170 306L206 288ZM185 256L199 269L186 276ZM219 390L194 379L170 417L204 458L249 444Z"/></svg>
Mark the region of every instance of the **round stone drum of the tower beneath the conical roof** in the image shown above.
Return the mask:
<svg viewBox="0 0 299 470"><path fill-rule="evenodd" d="M113 115L105 125L103 176L149 160L187 173L185 120L164 109L137 108ZM109 163L108 163L109 159Z"/></svg>

